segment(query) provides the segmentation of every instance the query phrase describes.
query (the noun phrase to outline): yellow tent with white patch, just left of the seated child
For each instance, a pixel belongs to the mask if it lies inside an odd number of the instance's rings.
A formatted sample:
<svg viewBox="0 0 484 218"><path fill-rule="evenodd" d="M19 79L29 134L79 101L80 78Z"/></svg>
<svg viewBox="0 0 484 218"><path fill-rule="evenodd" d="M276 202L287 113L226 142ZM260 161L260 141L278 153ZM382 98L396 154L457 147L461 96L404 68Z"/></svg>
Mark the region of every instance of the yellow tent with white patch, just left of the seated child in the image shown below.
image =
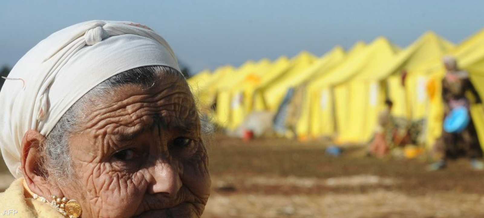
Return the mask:
<svg viewBox="0 0 484 218"><path fill-rule="evenodd" d="M399 48L383 37L348 62L338 74L343 77L334 88L337 143L362 143L370 140L379 111L383 109L385 87L372 78L391 62Z"/></svg>

